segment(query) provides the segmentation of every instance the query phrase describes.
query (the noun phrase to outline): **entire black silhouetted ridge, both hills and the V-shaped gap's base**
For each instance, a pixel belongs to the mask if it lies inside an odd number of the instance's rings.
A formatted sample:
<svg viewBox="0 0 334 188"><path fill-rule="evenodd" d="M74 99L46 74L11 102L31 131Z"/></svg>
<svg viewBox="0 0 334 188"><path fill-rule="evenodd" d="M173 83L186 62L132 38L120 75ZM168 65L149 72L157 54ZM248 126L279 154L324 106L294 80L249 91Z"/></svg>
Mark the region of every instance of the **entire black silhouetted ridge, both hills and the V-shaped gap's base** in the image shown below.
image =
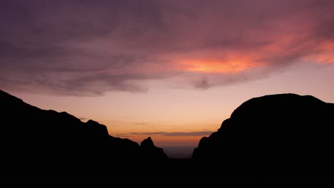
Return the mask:
<svg viewBox="0 0 334 188"><path fill-rule="evenodd" d="M295 94L253 98L191 160L169 160L106 126L41 110L0 90L0 184L332 184L334 104Z"/></svg>

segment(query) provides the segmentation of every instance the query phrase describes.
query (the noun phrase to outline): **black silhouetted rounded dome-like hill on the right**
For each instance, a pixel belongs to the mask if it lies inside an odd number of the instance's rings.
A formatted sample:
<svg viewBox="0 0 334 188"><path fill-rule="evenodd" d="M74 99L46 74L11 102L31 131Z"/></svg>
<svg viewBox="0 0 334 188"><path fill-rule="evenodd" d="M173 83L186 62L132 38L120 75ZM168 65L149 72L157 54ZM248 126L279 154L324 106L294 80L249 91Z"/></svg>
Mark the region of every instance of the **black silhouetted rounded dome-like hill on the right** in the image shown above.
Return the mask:
<svg viewBox="0 0 334 188"><path fill-rule="evenodd" d="M193 160L208 169L207 177L226 181L328 183L333 135L334 104L309 95L266 95L246 101L218 132L203 137Z"/></svg>

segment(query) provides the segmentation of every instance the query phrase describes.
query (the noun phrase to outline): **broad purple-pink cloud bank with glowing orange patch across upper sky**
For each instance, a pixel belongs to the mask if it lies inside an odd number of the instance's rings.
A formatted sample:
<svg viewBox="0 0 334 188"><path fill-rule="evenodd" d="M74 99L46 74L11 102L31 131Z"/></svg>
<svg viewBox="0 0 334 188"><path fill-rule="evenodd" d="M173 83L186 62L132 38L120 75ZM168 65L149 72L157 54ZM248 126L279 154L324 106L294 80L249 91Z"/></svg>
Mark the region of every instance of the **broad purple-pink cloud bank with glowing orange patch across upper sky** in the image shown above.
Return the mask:
<svg viewBox="0 0 334 188"><path fill-rule="evenodd" d="M0 86L56 95L198 89L333 63L334 2L1 1Z"/></svg>

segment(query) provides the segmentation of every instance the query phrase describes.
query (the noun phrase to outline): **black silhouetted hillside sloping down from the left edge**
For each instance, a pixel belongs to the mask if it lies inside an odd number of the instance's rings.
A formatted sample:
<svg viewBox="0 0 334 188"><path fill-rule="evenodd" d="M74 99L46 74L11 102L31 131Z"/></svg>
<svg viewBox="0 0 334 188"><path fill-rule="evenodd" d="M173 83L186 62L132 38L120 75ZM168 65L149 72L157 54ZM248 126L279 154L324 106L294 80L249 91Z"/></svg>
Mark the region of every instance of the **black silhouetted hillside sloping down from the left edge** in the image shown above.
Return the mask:
<svg viewBox="0 0 334 188"><path fill-rule="evenodd" d="M152 140L139 147L98 122L41 110L1 90L0 104L1 182L145 181L136 174L143 158L165 155Z"/></svg>

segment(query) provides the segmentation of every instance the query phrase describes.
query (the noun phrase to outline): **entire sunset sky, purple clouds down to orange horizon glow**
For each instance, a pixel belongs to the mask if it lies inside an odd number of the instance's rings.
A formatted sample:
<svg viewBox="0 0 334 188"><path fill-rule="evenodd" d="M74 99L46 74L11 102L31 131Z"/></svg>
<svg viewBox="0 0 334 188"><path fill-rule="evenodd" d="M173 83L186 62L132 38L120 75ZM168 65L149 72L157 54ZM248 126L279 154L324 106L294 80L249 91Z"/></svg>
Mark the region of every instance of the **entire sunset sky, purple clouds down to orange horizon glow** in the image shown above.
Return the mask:
<svg viewBox="0 0 334 188"><path fill-rule="evenodd" d="M334 1L0 1L0 89L196 147L248 99L334 103Z"/></svg>

